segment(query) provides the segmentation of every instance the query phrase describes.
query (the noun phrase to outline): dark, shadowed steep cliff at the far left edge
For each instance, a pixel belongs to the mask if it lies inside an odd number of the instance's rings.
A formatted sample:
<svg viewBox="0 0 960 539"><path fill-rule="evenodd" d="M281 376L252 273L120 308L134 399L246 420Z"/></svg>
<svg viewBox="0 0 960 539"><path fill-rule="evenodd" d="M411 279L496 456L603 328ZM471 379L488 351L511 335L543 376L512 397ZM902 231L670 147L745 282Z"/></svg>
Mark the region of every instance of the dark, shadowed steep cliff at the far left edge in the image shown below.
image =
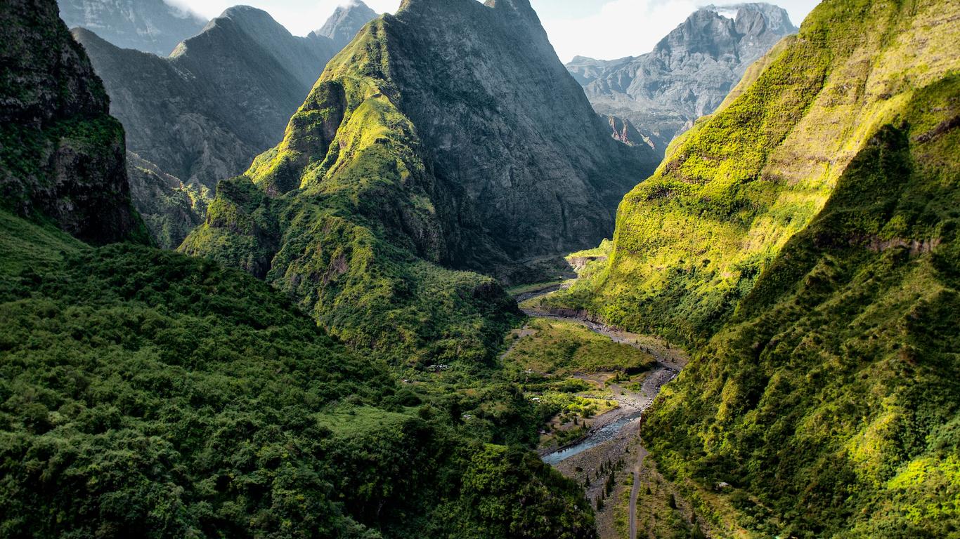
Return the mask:
<svg viewBox="0 0 960 539"><path fill-rule="evenodd" d="M4 2L0 42L4 208L93 244L147 241L131 204L123 128L56 5Z"/></svg>

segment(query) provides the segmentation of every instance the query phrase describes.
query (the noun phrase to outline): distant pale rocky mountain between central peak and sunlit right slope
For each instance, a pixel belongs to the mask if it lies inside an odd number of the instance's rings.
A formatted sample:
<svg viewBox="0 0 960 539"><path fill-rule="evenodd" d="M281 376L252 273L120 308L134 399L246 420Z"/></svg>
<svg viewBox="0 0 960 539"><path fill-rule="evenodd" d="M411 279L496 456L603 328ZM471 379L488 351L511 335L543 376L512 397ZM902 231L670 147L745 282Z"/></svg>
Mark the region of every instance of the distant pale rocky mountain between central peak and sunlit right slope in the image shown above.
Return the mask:
<svg viewBox="0 0 960 539"><path fill-rule="evenodd" d="M730 16L728 16L730 15ZM707 7L694 12L650 53L566 68L597 112L634 124L662 154L677 135L713 112L747 68L797 29L769 4Z"/></svg>

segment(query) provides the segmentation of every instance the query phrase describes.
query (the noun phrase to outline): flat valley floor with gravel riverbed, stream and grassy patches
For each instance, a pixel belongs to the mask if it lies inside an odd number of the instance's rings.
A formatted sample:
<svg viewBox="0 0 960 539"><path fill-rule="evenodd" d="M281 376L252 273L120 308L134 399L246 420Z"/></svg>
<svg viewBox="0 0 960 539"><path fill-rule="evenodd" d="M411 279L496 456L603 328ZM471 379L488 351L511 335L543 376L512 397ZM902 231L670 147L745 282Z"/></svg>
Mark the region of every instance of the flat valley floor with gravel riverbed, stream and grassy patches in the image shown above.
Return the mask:
<svg viewBox="0 0 960 539"><path fill-rule="evenodd" d="M538 308L540 298L570 285L568 281L563 285L540 285L529 292L522 289L516 291L515 297L524 314L529 316L529 321L515 332L516 342L500 359L505 363L518 362L524 372L537 372L562 384L564 379L566 383L584 383L584 386L576 387L580 389L575 393L578 398L606 402L608 405L615 403L612 410L601 410L599 414L590 414L589 417L581 415L580 428L574 431L577 437L569 441L563 441L565 437L544 434L563 427L563 422L552 418L546 426L547 431L541 431L539 453L544 462L559 470L564 477L584 485L588 500L597 511L601 539L636 539L641 471L645 477L656 474L655 469L644 467L644 459L649 453L641 442L643 416L653 406L661 388L680 374L689 361L688 356L683 349L656 337L617 330L585 316L551 314ZM553 336L545 329L553 329L553 324L558 322L583 327L591 334L609 340L615 348L630 347L641 351L649 359L645 363L624 363L619 361L623 355L621 349L596 350L593 354L602 359L589 361L586 358L592 354L584 353L581 348L572 354L573 358L579 356L579 361L566 364L565 368L550 368L547 363L534 359L540 354L531 352L530 348L539 348L538 352L545 352L556 360L557 356L550 353L554 347L551 340ZM565 343L568 351L577 346L601 347L597 341L585 338L582 333L571 334L574 338ZM557 363L553 366L556 367ZM637 370L642 372L636 374ZM530 395L540 395L530 397L539 401L543 393ZM563 417L563 414L558 417ZM659 474L656 476L668 484ZM667 508L668 514L677 513L673 515L675 522L665 525L671 532L696 527L692 513L680 516L681 513L677 511L677 508ZM623 513L626 513L626 517ZM614 515L618 517L618 524L614 522ZM625 523L629 523L627 529L624 529ZM641 531L643 536L647 536L648 533L657 533L658 527L645 520Z"/></svg>

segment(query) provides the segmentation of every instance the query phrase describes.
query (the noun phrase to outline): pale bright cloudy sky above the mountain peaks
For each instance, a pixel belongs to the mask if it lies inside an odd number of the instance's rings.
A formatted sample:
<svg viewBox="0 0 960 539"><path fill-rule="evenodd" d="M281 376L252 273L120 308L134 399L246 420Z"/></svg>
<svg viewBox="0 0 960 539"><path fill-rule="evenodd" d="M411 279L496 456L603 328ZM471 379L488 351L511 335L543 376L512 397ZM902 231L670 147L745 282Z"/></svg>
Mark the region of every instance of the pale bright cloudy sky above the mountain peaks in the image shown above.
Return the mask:
<svg viewBox="0 0 960 539"><path fill-rule="evenodd" d="M236 4L270 12L290 32L307 35L345 0L168 0L213 18ZM395 12L399 0L365 0L377 12ZM771 0L790 12L800 26L819 0ZM636 56L653 49L698 6L711 0L531 0L561 59L575 55L597 59ZM716 2L718 5L734 2Z"/></svg>

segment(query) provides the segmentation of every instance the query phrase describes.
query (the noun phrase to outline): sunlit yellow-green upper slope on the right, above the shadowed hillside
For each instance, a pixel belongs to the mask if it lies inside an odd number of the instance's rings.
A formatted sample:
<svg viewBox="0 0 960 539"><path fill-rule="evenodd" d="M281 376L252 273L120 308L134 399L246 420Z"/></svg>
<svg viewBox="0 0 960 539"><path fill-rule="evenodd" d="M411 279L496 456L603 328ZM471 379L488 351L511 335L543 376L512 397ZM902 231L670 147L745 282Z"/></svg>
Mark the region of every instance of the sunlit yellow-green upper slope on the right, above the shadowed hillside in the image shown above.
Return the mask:
<svg viewBox="0 0 960 539"><path fill-rule="evenodd" d="M609 268L563 298L683 340L719 329L881 126L960 67L958 7L828 0L622 202Z"/></svg>

